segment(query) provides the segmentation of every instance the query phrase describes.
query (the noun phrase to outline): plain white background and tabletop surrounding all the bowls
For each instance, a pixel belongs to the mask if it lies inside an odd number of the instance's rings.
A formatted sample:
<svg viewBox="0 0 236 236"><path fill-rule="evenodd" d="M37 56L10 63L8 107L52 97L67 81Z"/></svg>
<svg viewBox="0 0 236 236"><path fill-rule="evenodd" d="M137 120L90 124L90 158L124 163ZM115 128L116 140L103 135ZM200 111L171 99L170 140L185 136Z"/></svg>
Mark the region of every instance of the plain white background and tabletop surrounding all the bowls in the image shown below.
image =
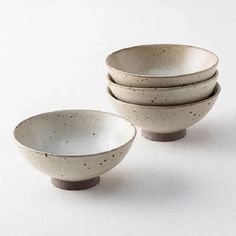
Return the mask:
<svg viewBox="0 0 236 236"><path fill-rule="evenodd" d="M235 1L0 1L0 235L235 235ZM115 112L106 56L145 43L219 55L208 116L170 143L138 133L101 183L63 191L19 154L14 126L57 109Z"/></svg>

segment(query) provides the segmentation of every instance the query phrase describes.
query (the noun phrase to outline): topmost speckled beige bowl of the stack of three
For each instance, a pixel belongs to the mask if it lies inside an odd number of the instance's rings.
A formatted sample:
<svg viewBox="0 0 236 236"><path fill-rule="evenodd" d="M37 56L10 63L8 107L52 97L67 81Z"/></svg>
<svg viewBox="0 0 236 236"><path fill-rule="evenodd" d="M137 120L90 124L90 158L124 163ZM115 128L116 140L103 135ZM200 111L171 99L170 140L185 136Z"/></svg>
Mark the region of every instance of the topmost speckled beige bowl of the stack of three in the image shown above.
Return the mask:
<svg viewBox="0 0 236 236"><path fill-rule="evenodd" d="M194 46L152 44L113 52L107 57L106 64L117 84L142 88L172 87L212 77L218 57Z"/></svg>

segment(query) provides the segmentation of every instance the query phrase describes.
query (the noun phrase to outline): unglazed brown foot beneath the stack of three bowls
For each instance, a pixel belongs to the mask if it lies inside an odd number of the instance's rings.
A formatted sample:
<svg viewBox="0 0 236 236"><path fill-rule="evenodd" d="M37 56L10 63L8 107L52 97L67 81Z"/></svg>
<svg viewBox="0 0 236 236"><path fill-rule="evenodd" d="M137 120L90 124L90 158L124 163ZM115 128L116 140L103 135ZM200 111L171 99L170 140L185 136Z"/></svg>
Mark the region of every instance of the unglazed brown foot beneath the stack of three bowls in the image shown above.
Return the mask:
<svg viewBox="0 0 236 236"><path fill-rule="evenodd" d="M144 138L152 141L169 142L183 138L186 135L186 129L169 134L160 134L151 131L141 130L141 134Z"/></svg>

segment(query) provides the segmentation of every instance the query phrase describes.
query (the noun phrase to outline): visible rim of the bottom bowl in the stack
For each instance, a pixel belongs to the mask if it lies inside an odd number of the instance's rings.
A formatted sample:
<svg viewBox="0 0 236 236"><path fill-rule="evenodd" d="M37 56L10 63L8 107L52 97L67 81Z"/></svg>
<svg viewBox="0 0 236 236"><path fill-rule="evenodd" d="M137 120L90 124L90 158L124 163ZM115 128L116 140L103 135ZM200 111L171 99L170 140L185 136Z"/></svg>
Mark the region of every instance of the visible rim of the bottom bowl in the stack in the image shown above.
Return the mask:
<svg viewBox="0 0 236 236"><path fill-rule="evenodd" d="M206 99L203 99L203 100L200 100L197 102L181 104L181 105L152 106L152 105L139 105L139 104L134 104L134 103L123 102L123 101L117 99L114 96L114 94L112 93L111 89L109 87L107 87L107 94L112 100L114 100L122 105L128 105L128 106L132 106L132 107L140 107L140 108L144 108L144 109L173 109L173 108L183 108L183 107L194 106L197 104L206 103L206 102L213 100L214 98L216 98L219 95L220 91L221 91L221 86L217 82L214 89L213 89L212 94Z"/></svg>

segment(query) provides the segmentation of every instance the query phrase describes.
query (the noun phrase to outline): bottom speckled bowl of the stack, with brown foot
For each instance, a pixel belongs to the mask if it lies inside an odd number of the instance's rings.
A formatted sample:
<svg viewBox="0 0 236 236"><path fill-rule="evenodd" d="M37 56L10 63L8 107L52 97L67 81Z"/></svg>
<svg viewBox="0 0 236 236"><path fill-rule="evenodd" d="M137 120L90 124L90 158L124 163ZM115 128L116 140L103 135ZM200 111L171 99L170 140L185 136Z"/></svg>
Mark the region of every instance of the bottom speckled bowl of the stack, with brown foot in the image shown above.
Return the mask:
<svg viewBox="0 0 236 236"><path fill-rule="evenodd" d="M220 93L217 83L212 94L199 102L178 106L142 106L116 99L108 94L115 109L142 129L142 135L155 141L173 141L185 136L186 128L196 124L213 107Z"/></svg>

